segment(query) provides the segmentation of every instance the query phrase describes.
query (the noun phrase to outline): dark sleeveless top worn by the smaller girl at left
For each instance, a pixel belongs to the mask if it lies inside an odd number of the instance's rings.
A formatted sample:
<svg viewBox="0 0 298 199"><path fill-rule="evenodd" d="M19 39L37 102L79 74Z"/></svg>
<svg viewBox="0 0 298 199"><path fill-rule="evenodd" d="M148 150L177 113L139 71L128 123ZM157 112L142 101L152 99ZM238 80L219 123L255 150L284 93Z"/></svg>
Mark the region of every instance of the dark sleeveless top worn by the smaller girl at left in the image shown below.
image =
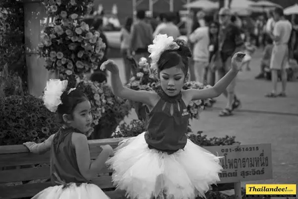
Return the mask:
<svg viewBox="0 0 298 199"><path fill-rule="evenodd" d="M90 183L79 172L72 134L74 128L61 128L53 138L51 147L51 182L53 185Z"/></svg>

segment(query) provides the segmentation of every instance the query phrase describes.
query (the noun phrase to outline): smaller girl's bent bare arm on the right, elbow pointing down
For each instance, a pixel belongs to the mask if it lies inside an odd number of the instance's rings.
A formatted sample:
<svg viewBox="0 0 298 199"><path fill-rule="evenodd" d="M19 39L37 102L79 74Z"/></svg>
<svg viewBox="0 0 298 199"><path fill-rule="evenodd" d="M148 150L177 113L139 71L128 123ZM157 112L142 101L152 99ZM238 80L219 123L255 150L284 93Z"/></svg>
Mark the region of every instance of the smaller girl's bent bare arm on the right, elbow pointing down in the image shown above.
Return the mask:
<svg viewBox="0 0 298 199"><path fill-rule="evenodd" d="M76 161L79 172L86 180L91 180L104 168L109 156L113 155L110 145L102 146L101 153L91 162L87 137L81 133L73 133L72 143L74 144Z"/></svg>

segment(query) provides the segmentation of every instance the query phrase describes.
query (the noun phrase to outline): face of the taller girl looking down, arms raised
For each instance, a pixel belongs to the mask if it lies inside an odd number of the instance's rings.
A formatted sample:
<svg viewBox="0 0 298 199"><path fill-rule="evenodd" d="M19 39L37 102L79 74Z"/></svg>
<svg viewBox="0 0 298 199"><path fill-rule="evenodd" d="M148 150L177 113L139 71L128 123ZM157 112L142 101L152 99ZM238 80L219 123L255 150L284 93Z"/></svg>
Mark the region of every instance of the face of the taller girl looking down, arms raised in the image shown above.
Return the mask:
<svg viewBox="0 0 298 199"><path fill-rule="evenodd" d="M180 67L173 66L161 70L159 72L159 78L162 90L168 96L175 96L179 94L183 87L185 74Z"/></svg>

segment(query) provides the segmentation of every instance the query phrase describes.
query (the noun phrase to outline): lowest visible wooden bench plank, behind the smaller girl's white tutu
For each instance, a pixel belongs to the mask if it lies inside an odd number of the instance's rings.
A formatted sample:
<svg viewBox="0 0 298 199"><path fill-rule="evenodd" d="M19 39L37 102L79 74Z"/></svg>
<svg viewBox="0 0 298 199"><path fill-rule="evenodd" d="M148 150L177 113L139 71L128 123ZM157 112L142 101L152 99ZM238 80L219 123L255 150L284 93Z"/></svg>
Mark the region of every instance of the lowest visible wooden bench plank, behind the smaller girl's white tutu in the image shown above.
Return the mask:
<svg viewBox="0 0 298 199"><path fill-rule="evenodd" d="M111 176L101 176L95 178L93 182L101 189L114 188L111 179ZM38 192L42 191L43 189L46 189L47 187L51 186L52 184L48 182L0 187L0 199L17 199L32 197L36 195Z"/></svg>

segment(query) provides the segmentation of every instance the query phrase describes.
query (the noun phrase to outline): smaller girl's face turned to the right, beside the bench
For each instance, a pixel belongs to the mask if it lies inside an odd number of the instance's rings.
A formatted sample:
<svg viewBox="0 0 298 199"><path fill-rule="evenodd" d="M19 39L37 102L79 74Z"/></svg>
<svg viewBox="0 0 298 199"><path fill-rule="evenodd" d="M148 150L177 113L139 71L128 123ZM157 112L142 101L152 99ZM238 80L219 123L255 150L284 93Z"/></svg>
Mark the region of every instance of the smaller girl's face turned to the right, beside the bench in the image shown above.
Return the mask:
<svg viewBox="0 0 298 199"><path fill-rule="evenodd" d="M68 121L68 124L81 133L87 133L91 128L91 122L91 104L88 100L85 100L75 106L73 118Z"/></svg>

